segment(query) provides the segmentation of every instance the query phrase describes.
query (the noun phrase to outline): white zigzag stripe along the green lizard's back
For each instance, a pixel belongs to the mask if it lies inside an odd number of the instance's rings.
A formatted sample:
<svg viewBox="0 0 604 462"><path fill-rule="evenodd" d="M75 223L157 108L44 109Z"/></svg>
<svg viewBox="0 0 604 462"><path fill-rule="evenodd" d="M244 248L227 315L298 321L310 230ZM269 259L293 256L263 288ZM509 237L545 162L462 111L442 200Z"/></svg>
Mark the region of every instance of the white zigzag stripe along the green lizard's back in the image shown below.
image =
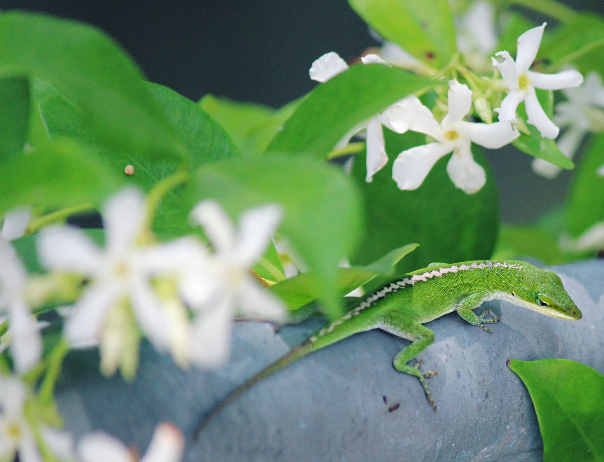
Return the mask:
<svg viewBox="0 0 604 462"><path fill-rule="evenodd" d="M512 268L512 269L522 269L524 266L522 265L514 265L513 263L507 263L506 261L483 261L482 263L478 263L474 261L470 265L460 265L460 266L450 266L449 268L439 268L433 269L431 271L426 271L423 274L414 274L411 278L405 277L398 281L394 281L393 283L388 284L387 286L382 287L382 289L374 292L369 295L365 300L363 300L359 306L355 309L350 310L348 313L344 315L344 317L338 319L337 321L333 321L329 326L324 327L320 330L320 332L310 338L310 342L314 343L318 338L330 333L336 327L340 326L344 321L348 321L349 319L357 316L362 312L365 308L372 306L377 300L381 300L386 295L391 292L398 292L400 289L403 289L406 286L414 286L415 283L422 281L426 282L428 279L433 277L443 277L445 274L449 273L457 273L459 271L468 271L470 269L484 269L484 268Z"/></svg>

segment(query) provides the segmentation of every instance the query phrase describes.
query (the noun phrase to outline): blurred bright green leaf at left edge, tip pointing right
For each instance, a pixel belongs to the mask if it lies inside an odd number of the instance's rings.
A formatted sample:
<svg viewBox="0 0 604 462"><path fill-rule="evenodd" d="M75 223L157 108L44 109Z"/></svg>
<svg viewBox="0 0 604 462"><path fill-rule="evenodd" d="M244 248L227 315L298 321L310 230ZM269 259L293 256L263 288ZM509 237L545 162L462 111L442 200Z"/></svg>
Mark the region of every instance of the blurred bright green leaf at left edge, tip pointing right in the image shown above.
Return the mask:
<svg viewBox="0 0 604 462"><path fill-rule="evenodd" d="M55 140L2 165L0 214L18 205L98 205L120 185L115 172L86 147Z"/></svg>

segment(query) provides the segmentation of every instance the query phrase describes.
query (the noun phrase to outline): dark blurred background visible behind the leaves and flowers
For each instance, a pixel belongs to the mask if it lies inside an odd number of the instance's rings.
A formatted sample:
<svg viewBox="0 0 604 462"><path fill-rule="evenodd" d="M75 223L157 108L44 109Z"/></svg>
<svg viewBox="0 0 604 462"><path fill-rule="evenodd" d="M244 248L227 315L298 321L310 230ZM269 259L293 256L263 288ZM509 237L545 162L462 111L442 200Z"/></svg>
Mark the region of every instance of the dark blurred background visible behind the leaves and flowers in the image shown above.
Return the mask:
<svg viewBox="0 0 604 462"><path fill-rule="evenodd" d="M604 14L602 0L564 3ZM193 100L212 93L282 106L313 88L308 69L321 54L350 59L376 44L346 0L0 0L0 8L94 24L149 80ZM506 222L528 222L564 202L570 172L551 181L513 148L488 155Z"/></svg>

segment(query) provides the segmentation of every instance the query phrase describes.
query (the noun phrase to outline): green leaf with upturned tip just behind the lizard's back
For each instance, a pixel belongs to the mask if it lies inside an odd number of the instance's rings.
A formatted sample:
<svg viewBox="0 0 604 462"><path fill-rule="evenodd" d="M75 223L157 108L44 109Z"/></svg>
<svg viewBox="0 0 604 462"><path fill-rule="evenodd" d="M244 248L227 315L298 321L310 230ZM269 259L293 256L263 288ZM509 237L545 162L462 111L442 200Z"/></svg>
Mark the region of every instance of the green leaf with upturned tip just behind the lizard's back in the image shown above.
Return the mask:
<svg viewBox="0 0 604 462"><path fill-rule="evenodd" d="M413 252L416 248L417 244L408 244L394 249L370 265L338 268L336 278L338 295L344 297L344 295L368 283L376 276L392 276L394 268L401 258ZM269 290L281 298L289 310L297 310L321 296L315 285L315 276L312 273L299 274L271 286Z"/></svg>

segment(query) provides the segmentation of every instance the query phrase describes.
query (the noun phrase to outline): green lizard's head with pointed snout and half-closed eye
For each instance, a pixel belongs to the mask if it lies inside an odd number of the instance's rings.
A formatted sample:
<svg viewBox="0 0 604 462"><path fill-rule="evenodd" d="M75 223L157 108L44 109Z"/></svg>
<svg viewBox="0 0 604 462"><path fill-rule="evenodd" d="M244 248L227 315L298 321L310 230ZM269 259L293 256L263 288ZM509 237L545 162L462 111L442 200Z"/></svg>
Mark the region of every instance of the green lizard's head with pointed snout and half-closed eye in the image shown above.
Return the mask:
<svg viewBox="0 0 604 462"><path fill-rule="evenodd" d="M532 265L531 265L532 266ZM528 278L525 286L514 294L525 307L559 319L578 321L583 317L568 295L561 278L553 271L534 267L536 277Z"/></svg>

